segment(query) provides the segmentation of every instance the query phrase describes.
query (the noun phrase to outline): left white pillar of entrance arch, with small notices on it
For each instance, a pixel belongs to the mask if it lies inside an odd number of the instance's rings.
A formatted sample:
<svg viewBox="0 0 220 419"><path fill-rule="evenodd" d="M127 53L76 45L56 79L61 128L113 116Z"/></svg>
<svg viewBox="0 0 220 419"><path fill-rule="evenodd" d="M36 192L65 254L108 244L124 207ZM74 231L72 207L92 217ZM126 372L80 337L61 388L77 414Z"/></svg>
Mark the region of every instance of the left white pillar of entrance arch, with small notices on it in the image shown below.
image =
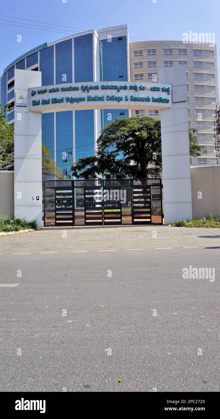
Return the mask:
<svg viewBox="0 0 220 419"><path fill-rule="evenodd" d="M41 114L29 112L27 103L28 88L36 86L40 71L15 69L15 217L36 218L42 227Z"/></svg>

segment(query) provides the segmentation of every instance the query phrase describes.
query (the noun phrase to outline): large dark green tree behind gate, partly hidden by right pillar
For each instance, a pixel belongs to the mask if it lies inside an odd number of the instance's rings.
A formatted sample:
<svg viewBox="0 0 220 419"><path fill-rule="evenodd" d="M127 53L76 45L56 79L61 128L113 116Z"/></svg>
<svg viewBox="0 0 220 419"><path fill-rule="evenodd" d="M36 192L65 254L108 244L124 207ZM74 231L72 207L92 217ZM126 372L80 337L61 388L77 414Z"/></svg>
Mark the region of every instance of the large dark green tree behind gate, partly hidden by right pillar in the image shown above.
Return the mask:
<svg viewBox="0 0 220 419"><path fill-rule="evenodd" d="M199 156L202 147L197 129L189 129L190 155ZM95 156L72 165L76 178L148 178L161 176L161 126L157 119L116 119L102 129Z"/></svg>

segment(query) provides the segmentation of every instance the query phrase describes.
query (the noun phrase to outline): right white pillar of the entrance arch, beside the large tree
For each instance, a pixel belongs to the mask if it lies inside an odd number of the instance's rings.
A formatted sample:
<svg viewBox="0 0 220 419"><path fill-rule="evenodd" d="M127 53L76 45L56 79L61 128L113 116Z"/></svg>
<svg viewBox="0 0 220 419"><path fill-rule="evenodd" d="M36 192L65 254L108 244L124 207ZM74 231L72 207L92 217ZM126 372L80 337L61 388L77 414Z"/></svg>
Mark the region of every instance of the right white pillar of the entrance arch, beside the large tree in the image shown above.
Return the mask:
<svg viewBox="0 0 220 419"><path fill-rule="evenodd" d="M172 85L172 109L161 110L164 224L192 220L186 67L159 70L160 83Z"/></svg>

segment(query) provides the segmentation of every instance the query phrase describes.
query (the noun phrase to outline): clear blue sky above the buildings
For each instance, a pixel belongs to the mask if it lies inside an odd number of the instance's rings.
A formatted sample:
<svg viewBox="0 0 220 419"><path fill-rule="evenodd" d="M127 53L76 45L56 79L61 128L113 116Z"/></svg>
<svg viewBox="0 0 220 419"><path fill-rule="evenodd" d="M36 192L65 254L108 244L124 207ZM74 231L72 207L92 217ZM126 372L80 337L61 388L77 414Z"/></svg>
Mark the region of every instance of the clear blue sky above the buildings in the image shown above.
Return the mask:
<svg viewBox="0 0 220 419"><path fill-rule="evenodd" d="M128 24L130 42L182 40L182 34L190 30L215 33L220 61L219 0L63 1L10 0L1 3L0 74L15 58L43 42L125 23ZM17 42L18 34L21 35L21 42Z"/></svg>

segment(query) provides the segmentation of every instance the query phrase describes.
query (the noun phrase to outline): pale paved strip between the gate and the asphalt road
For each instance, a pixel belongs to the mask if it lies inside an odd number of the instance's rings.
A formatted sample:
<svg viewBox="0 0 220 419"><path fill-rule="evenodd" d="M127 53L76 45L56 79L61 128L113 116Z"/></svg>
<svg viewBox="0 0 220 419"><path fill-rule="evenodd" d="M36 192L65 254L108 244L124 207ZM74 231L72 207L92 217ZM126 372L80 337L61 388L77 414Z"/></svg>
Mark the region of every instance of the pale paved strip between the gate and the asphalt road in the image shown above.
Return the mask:
<svg viewBox="0 0 220 419"><path fill-rule="evenodd" d="M1 237L0 253L203 245L220 245L220 229L156 225L43 228L31 233Z"/></svg>

